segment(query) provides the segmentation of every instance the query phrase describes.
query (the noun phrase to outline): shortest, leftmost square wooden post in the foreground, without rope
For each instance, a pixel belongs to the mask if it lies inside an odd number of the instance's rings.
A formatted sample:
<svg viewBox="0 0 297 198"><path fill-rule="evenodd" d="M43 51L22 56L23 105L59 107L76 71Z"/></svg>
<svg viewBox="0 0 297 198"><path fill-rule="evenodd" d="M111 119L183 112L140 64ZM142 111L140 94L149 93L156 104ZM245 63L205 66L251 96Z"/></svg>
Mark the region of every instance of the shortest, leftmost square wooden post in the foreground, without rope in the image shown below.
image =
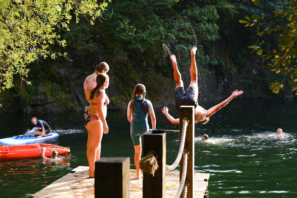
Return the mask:
<svg viewBox="0 0 297 198"><path fill-rule="evenodd" d="M130 158L104 157L95 162L95 198L129 198Z"/></svg>

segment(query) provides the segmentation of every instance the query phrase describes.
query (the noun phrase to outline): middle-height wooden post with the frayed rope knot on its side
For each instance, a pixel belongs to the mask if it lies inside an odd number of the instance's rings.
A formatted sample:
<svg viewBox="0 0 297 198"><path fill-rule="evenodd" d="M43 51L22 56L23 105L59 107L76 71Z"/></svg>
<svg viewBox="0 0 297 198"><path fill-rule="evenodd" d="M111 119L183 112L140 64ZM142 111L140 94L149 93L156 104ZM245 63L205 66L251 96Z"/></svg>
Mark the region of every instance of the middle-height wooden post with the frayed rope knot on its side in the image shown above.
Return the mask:
<svg viewBox="0 0 297 198"><path fill-rule="evenodd" d="M150 131L143 134L143 156L149 151L157 153L159 168L154 177L143 173L143 198L165 198L166 133L154 134Z"/></svg>

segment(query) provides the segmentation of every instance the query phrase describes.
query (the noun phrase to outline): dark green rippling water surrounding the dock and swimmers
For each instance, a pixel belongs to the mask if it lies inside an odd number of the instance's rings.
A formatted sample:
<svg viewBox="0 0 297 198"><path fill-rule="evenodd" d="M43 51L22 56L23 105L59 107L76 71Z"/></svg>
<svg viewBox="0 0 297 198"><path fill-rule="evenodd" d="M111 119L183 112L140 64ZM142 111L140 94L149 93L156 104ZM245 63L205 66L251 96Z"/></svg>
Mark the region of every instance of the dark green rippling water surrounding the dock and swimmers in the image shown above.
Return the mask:
<svg viewBox="0 0 297 198"><path fill-rule="evenodd" d="M209 108L217 102L202 104ZM177 130L154 107L157 128ZM297 101L260 99L237 100L211 117L206 125L195 126L195 171L210 173L211 198L297 197L296 121ZM173 107L170 113L177 115ZM0 197L30 197L78 166L88 166L87 132L82 113L0 115L0 138L24 134L33 128L32 116L45 120L60 136L45 143L70 147L63 161L43 159L0 161ZM103 135L103 157L130 157L135 168L134 148L126 111L108 111L110 132ZM149 123L151 126L151 124ZM277 137L282 128L284 137ZM214 130L214 133L211 131ZM202 142L200 136L210 139ZM176 158L178 133L167 133L167 164Z"/></svg>

